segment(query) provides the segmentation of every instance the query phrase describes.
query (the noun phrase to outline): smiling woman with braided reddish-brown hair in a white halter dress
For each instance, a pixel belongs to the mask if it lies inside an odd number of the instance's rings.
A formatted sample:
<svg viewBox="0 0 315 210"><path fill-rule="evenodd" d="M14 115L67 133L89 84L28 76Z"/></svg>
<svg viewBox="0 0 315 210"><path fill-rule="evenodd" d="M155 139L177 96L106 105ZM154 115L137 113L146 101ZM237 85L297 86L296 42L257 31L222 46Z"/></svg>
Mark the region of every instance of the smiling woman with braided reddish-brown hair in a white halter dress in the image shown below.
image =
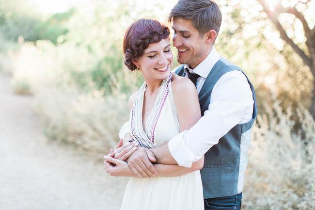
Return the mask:
<svg viewBox="0 0 315 210"><path fill-rule="evenodd" d="M155 178L137 177L127 163L121 161L135 151L137 144L146 148L161 145L189 129L201 117L193 83L171 73L173 54L169 34L165 25L152 19L137 20L125 34L125 64L131 71L139 70L145 82L128 102L130 137L136 141L122 147L128 150L124 152L124 157L105 157L108 162L122 168L120 171L109 168L111 176L131 177L122 210L204 209L199 172L203 167L203 158L194 162L191 168L155 164Z"/></svg>

